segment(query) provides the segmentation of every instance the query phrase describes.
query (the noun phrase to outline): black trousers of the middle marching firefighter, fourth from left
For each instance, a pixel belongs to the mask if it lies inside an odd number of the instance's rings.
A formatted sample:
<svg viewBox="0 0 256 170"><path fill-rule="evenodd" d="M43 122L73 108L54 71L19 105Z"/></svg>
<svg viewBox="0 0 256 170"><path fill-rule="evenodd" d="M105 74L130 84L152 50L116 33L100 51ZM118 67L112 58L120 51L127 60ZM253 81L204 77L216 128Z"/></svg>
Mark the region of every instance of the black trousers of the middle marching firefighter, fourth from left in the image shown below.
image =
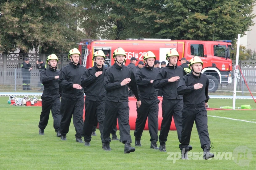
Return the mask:
<svg viewBox="0 0 256 170"><path fill-rule="evenodd" d="M129 124L129 105L125 102L111 102L105 100L105 118L103 122L103 138L102 143L111 142L110 133L113 129L113 124L118 118L118 125L122 143L127 140L131 141L130 124Z"/></svg>

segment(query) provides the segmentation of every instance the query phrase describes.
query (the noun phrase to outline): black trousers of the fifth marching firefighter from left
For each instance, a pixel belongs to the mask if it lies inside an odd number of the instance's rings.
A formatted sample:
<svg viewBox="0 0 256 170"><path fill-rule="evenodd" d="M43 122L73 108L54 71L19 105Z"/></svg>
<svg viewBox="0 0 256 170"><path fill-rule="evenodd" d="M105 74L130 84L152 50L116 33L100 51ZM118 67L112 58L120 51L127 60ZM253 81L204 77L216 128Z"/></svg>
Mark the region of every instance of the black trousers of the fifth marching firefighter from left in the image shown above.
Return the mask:
<svg viewBox="0 0 256 170"><path fill-rule="evenodd" d="M141 106L137 107L137 119L135 123L135 139L142 137L142 132L148 119L150 141L158 141L158 99L141 99ZM137 106L137 104L136 104Z"/></svg>

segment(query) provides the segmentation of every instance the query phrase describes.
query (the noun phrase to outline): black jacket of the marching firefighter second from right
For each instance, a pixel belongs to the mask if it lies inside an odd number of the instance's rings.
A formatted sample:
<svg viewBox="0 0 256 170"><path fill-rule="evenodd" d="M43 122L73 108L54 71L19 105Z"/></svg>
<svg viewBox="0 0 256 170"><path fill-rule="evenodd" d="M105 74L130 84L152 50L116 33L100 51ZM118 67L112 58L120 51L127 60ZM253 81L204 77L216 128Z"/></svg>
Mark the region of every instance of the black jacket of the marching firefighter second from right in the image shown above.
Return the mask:
<svg viewBox="0 0 256 170"><path fill-rule="evenodd" d="M178 95L177 87L179 81L182 77L186 75L184 69L180 66L169 66L167 65L165 68L161 69L157 75L157 77L153 81L153 86L156 89L162 87L163 91L163 99L182 99L182 95ZM169 82L168 79L171 77L179 76L180 79L178 81Z"/></svg>

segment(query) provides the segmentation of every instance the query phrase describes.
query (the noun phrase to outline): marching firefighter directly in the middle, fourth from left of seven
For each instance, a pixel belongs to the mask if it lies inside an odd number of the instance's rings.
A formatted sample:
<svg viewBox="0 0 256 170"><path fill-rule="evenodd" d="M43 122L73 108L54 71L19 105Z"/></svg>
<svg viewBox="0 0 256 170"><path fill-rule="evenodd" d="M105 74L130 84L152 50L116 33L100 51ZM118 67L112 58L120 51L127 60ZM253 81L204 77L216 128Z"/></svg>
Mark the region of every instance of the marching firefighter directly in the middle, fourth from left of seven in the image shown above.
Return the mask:
<svg viewBox="0 0 256 170"><path fill-rule="evenodd" d="M138 91L135 76L132 70L124 66L126 53L119 47L113 53L115 63L110 66L105 73L104 87L107 91L105 97L105 118L103 122L103 149L110 151L110 133L113 124L118 117L118 125L122 143L125 144L124 153L134 152L131 147L131 135L129 124L129 105L128 105L128 86L137 99L137 105L140 107L140 94Z"/></svg>

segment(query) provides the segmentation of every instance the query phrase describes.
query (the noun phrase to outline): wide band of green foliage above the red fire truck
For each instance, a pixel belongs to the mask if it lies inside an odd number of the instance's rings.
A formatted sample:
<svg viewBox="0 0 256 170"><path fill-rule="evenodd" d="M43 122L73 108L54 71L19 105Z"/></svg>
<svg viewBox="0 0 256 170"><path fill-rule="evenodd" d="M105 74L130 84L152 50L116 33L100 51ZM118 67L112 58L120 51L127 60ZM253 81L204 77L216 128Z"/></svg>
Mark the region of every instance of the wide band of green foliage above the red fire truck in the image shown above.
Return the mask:
<svg viewBox="0 0 256 170"><path fill-rule="evenodd" d="M255 0L84 1L82 28L93 38L235 40L252 19ZM90 7L90 8L89 8ZM108 34L102 31L106 28ZM91 33L93 32L93 33Z"/></svg>

